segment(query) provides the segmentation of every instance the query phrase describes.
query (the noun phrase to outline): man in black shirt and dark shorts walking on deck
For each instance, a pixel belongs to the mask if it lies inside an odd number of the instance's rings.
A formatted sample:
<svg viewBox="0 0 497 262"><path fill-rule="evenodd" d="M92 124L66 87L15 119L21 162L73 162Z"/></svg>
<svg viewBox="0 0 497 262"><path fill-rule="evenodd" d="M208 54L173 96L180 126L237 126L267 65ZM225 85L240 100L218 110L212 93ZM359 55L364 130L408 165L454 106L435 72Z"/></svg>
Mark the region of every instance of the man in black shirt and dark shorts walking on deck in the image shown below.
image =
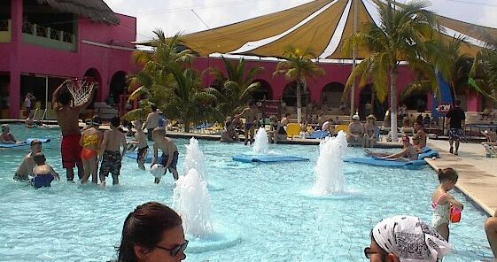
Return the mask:
<svg viewBox="0 0 497 262"><path fill-rule="evenodd" d="M466 120L466 115L460 107L461 101L455 100L455 106L449 112L447 112L447 127L450 127L448 132L448 143L450 143L449 152L454 155L458 155L459 151L459 140L464 136L464 122ZM455 141L455 150L453 147Z"/></svg>

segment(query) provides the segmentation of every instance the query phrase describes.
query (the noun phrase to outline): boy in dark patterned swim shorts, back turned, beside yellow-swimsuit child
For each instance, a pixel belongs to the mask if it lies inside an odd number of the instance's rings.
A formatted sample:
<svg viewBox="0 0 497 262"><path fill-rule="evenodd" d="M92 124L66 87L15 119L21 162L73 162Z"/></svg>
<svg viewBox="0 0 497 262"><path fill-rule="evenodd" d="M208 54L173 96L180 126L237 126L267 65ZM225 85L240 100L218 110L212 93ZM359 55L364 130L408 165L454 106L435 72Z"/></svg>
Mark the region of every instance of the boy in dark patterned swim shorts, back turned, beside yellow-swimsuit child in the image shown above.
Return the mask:
<svg viewBox="0 0 497 262"><path fill-rule="evenodd" d="M105 188L105 178L112 173L113 185L119 184L120 162L126 154L126 136L120 132L120 119L113 117L111 119L111 130L104 133L104 140L100 146L98 161L102 161L100 165L100 187ZM120 152L122 146L122 153Z"/></svg>

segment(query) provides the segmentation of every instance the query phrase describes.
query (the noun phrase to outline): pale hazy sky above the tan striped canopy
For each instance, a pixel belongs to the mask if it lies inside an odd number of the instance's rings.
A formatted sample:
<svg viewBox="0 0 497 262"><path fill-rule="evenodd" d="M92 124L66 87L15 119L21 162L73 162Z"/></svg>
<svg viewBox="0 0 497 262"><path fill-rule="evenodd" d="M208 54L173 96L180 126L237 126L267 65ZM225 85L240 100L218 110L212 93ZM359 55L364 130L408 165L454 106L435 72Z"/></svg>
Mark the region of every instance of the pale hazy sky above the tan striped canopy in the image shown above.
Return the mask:
<svg viewBox="0 0 497 262"><path fill-rule="evenodd" d="M188 34L278 12L311 0L104 0L113 12L136 17L138 41L161 28L166 35ZM370 2L371 0L364 0ZM399 0L405 3L405 0ZM368 6L368 4L367 4ZM432 0L431 11L497 28L497 0Z"/></svg>

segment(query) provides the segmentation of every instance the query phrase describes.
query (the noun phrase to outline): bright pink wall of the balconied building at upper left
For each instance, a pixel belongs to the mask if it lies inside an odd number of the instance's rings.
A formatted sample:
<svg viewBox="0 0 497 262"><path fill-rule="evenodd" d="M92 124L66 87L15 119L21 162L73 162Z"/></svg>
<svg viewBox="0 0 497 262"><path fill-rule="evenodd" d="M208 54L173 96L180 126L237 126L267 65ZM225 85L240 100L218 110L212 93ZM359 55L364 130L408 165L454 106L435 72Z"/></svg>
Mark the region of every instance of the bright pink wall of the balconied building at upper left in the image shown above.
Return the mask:
<svg viewBox="0 0 497 262"><path fill-rule="evenodd" d="M109 84L114 73L139 70L132 61L132 50L122 50L134 48L130 43L136 41L134 17L116 14L120 18L120 25L90 22L80 18L77 51L71 52L22 42L22 0L12 0L11 12L12 42L0 43L0 72L9 72L11 75L11 117L19 115L21 73L70 78L82 77L87 70L93 68L101 76L97 99L103 100L109 95ZM83 43L84 41L97 44Z"/></svg>

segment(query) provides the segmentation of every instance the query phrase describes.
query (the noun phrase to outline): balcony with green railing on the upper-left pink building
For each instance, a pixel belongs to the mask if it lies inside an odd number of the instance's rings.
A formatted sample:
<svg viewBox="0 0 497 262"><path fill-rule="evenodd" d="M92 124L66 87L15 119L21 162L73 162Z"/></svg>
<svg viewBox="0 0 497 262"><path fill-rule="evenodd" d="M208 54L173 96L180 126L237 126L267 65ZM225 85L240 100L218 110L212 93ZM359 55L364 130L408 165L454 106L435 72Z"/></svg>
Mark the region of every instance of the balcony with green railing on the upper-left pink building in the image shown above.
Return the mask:
<svg viewBox="0 0 497 262"><path fill-rule="evenodd" d="M22 25L22 41L46 48L76 51L76 35L28 22Z"/></svg>

